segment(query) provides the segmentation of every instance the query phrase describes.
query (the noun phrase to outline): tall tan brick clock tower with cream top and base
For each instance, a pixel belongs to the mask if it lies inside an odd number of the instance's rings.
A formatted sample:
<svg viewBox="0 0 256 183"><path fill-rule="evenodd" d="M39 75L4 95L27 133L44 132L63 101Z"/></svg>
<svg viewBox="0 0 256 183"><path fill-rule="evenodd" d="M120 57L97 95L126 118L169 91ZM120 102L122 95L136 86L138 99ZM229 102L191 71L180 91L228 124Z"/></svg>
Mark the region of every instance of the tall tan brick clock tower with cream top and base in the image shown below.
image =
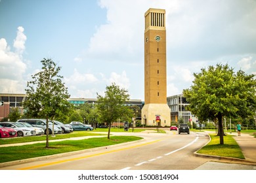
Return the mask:
<svg viewBox="0 0 256 183"><path fill-rule="evenodd" d="M144 98L142 124L170 125L167 105L165 10L150 8L144 14Z"/></svg>

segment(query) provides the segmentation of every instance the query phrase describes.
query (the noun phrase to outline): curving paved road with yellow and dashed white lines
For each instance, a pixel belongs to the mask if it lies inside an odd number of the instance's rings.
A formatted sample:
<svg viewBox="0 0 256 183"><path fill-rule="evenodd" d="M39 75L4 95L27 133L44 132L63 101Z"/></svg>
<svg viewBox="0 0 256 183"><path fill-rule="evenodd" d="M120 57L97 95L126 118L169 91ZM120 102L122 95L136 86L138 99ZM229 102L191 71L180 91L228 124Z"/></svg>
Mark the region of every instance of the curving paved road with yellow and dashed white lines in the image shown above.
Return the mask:
<svg viewBox="0 0 256 183"><path fill-rule="evenodd" d="M115 133L118 135L118 133ZM120 133L119 135L131 135ZM133 133L144 137L137 142L116 146L104 146L71 154L38 159L29 163L3 167L5 170L193 170L193 169L255 169L253 165L219 163L196 157L194 152L204 146L209 137L206 133L177 131L167 133Z"/></svg>

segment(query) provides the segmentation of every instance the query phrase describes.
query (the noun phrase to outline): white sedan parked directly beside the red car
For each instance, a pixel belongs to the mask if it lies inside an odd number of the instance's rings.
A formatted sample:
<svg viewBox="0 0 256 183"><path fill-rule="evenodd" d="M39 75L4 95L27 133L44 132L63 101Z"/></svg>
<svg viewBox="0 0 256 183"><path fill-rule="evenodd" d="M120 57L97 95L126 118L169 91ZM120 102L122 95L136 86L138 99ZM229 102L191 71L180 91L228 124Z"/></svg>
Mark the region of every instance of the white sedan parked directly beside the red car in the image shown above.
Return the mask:
<svg viewBox="0 0 256 183"><path fill-rule="evenodd" d="M30 127L24 127L24 125L15 122L1 122L4 127L12 127L17 131L17 137L32 136L35 135L35 130Z"/></svg>

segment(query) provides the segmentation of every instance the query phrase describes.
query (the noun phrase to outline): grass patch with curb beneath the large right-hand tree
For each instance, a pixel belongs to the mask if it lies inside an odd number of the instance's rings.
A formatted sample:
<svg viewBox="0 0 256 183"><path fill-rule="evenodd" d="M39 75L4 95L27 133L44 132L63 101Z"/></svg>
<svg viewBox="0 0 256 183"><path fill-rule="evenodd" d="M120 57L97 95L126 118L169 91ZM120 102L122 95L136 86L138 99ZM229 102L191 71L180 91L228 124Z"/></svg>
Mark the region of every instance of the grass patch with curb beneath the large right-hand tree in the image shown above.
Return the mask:
<svg viewBox="0 0 256 183"><path fill-rule="evenodd" d="M231 135L224 136L224 144L219 144L219 136L216 134L210 136L211 141L198 151L199 154L245 159L240 146Z"/></svg>

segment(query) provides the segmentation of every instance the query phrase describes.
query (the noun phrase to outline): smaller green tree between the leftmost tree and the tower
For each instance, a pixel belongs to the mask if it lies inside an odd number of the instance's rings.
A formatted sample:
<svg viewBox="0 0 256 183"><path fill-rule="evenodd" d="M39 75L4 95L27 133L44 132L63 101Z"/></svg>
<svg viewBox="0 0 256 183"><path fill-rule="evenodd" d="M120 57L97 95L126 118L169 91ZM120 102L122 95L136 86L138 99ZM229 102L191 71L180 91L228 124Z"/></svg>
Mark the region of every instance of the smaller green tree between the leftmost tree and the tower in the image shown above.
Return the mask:
<svg viewBox="0 0 256 183"><path fill-rule="evenodd" d="M132 111L125 106L125 101L129 100L128 91L120 89L115 83L106 87L105 96L97 93L97 108L100 112L100 118L108 124L108 139L110 139L110 129L112 122L123 116L131 116Z"/></svg>

